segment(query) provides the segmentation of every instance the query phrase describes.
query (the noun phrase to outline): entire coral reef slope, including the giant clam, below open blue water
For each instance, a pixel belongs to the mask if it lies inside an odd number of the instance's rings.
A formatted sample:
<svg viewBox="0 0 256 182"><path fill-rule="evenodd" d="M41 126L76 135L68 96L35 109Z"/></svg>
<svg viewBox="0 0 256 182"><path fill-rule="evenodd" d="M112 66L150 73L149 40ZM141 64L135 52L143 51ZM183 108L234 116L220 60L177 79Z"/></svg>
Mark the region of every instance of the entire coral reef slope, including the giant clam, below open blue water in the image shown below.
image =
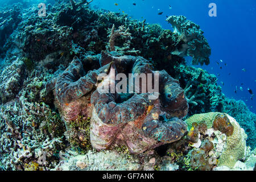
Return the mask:
<svg viewBox="0 0 256 182"><path fill-rule="evenodd" d="M29 3L0 10L1 170L254 168L241 127L254 148L255 114L225 98L216 76L185 64L209 64L199 26L170 16L172 32L92 1L55 2L45 17ZM159 74L158 99L141 83L100 92L121 83L113 73Z"/></svg>

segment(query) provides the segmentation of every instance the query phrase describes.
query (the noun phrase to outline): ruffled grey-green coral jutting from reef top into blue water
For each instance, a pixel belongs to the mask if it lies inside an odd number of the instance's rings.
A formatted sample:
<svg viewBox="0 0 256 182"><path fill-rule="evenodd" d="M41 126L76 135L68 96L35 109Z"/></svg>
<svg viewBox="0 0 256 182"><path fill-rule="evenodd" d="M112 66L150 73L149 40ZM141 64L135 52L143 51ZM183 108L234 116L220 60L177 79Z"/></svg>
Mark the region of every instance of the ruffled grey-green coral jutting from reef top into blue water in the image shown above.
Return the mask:
<svg viewBox="0 0 256 182"><path fill-rule="evenodd" d="M210 47L207 39L204 38L204 32L200 26L187 20L185 16L169 16L167 22L172 24L174 33L177 33L177 40L184 43L172 54L178 56L191 56L193 57L192 64L197 65L210 63Z"/></svg>

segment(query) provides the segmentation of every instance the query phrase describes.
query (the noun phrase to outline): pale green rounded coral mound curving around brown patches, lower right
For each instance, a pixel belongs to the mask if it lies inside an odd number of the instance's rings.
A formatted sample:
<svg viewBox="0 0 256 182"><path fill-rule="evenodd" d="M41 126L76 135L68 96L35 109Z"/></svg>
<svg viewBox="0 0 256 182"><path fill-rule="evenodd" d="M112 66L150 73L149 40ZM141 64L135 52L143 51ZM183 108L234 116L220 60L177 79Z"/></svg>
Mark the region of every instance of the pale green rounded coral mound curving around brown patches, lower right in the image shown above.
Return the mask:
<svg viewBox="0 0 256 182"><path fill-rule="evenodd" d="M223 122L226 121L226 122ZM227 135L226 144L222 151L220 158L218 159L218 166L234 167L237 160L244 158L246 150L246 138L245 131L240 127L236 119L230 117L225 113L204 113L195 114L192 117L185 120L188 125L188 129L192 128L192 123L205 123L207 128L214 128L225 132ZM214 127L214 123L221 125L218 128ZM230 125L233 126L233 132L230 130Z"/></svg>

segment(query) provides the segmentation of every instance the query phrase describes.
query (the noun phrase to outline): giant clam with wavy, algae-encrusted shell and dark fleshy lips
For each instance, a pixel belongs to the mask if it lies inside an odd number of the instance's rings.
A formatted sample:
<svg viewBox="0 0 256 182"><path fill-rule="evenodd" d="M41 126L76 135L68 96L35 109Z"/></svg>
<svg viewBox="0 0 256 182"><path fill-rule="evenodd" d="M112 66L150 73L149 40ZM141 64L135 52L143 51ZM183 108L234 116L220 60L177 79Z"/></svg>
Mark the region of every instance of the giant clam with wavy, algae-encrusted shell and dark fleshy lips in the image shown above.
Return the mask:
<svg viewBox="0 0 256 182"><path fill-rule="evenodd" d="M85 75L76 58L48 84L66 122L79 114L91 117L90 143L97 150L125 145L130 152L141 153L183 137L187 125L181 118L187 115L188 104L179 81L166 71L153 71L150 61L143 57L112 56L104 51L98 57L101 68ZM108 76L97 84L100 73ZM100 92L101 87L110 91L109 82L117 84L112 73L159 73L159 97L150 100L149 92L127 97Z"/></svg>

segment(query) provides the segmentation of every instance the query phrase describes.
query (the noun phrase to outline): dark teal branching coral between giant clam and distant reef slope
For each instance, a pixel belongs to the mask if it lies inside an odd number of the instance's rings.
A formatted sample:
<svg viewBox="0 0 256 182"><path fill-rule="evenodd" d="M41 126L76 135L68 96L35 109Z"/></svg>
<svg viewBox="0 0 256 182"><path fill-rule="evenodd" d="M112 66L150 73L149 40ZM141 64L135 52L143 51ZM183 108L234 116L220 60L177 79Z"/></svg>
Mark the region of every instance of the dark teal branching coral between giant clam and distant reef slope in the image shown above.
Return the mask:
<svg viewBox="0 0 256 182"><path fill-rule="evenodd" d="M193 68L180 64L175 66L175 76L184 88L189 104L188 115L221 111L225 96L221 86L217 85L217 77L201 68Z"/></svg>

